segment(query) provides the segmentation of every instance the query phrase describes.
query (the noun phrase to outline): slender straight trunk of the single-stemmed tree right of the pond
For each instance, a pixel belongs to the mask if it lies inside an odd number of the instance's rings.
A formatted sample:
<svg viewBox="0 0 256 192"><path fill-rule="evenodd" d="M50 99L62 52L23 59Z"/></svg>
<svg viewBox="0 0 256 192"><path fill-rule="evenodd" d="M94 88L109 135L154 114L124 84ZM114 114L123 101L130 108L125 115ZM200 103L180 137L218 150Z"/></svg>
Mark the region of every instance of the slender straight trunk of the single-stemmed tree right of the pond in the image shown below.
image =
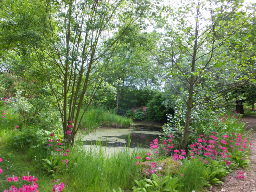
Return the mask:
<svg viewBox="0 0 256 192"><path fill-rule="evenodd" d="M197 9L197 16L196 16L197 22L196 22L196 29L195 29L195 42L194 42L194 50L193 50L192 65L191 65L191 76L190 76L190 82L189 82L186 121L184 126L184 135L182 139L183 149L187 148L190 118L191 118L190 115L191 115L192 104L193 104L194 72L195 72L195 63L196 63L197 37L198 37L198 15L199 15L199 9Z"/></svg>

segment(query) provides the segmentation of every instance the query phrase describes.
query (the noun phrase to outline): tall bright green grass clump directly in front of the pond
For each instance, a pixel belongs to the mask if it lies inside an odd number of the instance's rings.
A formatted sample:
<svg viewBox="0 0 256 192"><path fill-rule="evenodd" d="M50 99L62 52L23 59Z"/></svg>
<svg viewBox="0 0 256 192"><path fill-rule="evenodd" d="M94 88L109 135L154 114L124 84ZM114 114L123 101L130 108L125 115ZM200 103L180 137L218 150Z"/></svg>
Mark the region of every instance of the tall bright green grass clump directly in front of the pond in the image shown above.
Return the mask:
<svg viewBox="0 0 256 192"><path fill-rule="evenodd" d="M124 150L107 156L100 146L97 150L72 149L69 185L76 191L112 191L121 187L131 189L134 179L142 178L135 159L138 151Z"/></svg>

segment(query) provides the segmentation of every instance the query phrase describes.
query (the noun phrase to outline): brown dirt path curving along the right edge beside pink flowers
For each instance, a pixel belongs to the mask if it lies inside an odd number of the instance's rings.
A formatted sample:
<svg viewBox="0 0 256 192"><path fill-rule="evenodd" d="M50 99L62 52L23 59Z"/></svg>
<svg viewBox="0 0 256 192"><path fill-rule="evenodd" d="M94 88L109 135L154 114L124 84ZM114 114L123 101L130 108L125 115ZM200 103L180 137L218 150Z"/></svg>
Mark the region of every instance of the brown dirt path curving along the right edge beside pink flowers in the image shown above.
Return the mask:
<svg viewBox="0 0 256 192"><path fill-rule="evenodd" d="M208 189L212 192L256 192L256 116L242 118L246 121L247 129L253 129L253 135L250 142L254 144L249 156L250 165L245 169L237 168L231 174L226 176L223 185L213 186ZM239 171L244 171L244 179L236 178Z"/></svg>

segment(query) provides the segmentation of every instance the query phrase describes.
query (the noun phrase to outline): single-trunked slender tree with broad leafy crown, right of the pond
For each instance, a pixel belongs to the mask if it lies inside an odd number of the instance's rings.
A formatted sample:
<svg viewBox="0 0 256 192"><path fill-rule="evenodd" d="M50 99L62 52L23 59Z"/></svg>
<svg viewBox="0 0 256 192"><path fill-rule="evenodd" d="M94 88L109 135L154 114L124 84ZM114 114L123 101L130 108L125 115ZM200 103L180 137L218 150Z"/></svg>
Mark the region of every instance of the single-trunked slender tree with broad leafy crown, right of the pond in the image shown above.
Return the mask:
<svg viewBox="0 0 256 192"><path fill-rule="evenodd" d="M242 1L197 0L181 4L177 9L164 6L165 12L156 17L165 34L153 55L160 65L156 72L186 103L182 140L185 149L192 108L219 99L253 80L255 68L246 62L251 29L246 24L252 13L246 13ZM247 33L239 37L240 31ZM173 80L183 84L186 91L182 93L182 87L173 84Z"/></svg>

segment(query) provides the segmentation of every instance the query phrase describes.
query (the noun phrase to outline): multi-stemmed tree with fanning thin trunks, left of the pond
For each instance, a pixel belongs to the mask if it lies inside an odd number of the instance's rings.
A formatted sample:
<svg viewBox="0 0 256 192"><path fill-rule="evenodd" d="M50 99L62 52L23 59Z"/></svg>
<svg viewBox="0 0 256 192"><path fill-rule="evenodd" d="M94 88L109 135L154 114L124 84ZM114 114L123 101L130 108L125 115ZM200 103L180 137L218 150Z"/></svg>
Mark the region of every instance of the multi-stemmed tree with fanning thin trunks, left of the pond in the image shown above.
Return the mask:
<svg viewBox="0 0 256 192"><path fill-rule="evenodd" d="M48 99L60 112L64 138L73 144L120 37L149 11L149 2L69 0L46 9L44 29L37 31L42 42L32 46L54 94Z"/></svg>

